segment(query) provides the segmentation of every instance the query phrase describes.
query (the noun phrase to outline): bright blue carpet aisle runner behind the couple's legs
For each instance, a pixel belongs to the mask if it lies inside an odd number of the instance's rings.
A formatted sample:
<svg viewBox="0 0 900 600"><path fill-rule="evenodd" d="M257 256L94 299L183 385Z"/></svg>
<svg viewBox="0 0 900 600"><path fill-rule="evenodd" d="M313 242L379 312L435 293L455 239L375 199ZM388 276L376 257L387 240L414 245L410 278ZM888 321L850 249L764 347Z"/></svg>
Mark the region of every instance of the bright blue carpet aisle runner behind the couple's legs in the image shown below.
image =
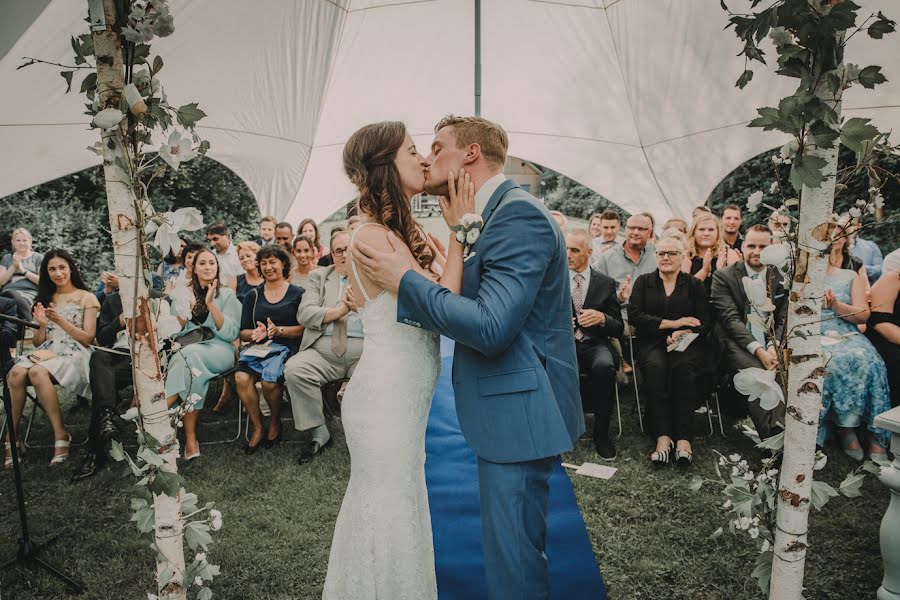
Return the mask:
<svg viewBox="0 0 900 600"><path fill-rule="evenodd" d="M442 370L425 438L428 501L440 600L484 598L478 467L466 445L453 399L450 370L453 342L441 340ZM557 465L550 478L547 556L554 600L605 600L606 589L594 560L572 483Z"/></svg>

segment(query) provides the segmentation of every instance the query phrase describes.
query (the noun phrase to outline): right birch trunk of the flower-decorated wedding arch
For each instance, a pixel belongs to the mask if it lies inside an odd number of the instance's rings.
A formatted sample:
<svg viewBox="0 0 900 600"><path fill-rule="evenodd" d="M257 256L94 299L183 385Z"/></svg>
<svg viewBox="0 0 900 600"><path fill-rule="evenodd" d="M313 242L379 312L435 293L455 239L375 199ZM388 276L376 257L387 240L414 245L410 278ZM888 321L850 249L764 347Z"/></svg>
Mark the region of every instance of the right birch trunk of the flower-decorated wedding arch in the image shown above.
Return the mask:
<svg viewBox="0 0 900 600"><path fill-rule="evenodd" d="M818 75L814 73L814 78ZM838 91L835 98L827 90L825 78L821 79L823 83L816 96L840 116L842 92ZM825 379L819 332L833 231L829 221L834 206L838 144L835 142L829 149L810 144L805 154L824 159L826 165L822 169L822 184L817 188L804 185L800 196L795 270L787 311L786 331L792 335L788 339L784 458L778 489L770 600L803 597L816 435Z"/></svg>

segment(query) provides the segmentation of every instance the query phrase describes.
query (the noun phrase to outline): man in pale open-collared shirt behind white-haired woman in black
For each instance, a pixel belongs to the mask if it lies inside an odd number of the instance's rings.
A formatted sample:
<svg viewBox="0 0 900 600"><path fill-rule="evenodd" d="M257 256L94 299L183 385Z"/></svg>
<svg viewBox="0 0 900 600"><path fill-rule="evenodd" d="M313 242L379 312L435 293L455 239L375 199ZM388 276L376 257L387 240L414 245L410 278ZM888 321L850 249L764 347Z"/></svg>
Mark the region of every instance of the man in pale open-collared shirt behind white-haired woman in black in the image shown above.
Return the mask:
<svg viewBox="0 0 900 600"><path fill-rule="evenodd" d="M653 235L653 217L640 213L628 217L625 223L625 241L605 252L594 267L616 280L619 286L619 302L628 300L628 290L640 275L656 270L656 250L650 244Z"/></svg>

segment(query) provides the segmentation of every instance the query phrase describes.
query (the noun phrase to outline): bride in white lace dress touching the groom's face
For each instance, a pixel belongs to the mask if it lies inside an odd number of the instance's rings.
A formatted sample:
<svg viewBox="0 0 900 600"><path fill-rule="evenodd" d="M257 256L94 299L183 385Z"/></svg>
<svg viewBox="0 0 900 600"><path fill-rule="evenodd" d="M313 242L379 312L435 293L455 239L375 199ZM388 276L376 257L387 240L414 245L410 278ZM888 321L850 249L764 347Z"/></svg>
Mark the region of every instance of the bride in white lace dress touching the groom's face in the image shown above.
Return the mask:
<svg viewBox="0 0 900 600"><path fill-rule="evenodd" d="M360 241L391 252L409 247L417 270L453 293L462 284L463 245L446 254L412 215L424 189L425 159L399 122L366 125L344 148L344 171L359 189ZM451 174L451 182L454 182ZM475 210L469 176L459 173L441 199L449 226ZM457 192L457 190L459 190ZM441 368L436 333L397 323L397 298L351 261L365 331L362 356L342 403L350 482L335 525L324 600L437 598L431 516L425 489L425 428Z"/></svg>

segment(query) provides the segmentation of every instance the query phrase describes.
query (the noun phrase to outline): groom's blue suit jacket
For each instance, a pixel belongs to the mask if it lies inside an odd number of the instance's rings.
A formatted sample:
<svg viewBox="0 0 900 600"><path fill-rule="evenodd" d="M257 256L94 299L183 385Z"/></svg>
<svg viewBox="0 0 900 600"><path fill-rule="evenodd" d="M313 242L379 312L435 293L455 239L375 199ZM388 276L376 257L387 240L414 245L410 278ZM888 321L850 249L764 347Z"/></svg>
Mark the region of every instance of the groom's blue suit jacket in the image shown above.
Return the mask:
<svg viewBox="0 0 900 600"><path fill-rule="evenodd" d="M509 180L482 217L462 295L409 271L397 320L457 341L456 411L478 456L556 456L584 432L565 239L543 204Z"/></svg>

